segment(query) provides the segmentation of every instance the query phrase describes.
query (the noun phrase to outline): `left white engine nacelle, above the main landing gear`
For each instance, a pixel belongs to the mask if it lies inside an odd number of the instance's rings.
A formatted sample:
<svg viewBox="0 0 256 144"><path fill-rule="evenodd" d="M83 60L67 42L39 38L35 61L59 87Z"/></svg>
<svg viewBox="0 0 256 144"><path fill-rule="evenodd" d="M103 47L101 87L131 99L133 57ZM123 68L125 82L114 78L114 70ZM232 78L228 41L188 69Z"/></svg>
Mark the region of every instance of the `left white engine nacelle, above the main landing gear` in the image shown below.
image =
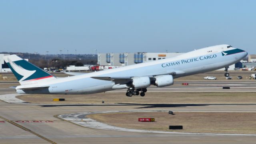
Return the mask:
<svg viewBox="0 0 256 144"><path fill-rule="evenodd" d="M132 77L132 86L134 86L135 89L149 87L150 78L149 77Z"/></svg>

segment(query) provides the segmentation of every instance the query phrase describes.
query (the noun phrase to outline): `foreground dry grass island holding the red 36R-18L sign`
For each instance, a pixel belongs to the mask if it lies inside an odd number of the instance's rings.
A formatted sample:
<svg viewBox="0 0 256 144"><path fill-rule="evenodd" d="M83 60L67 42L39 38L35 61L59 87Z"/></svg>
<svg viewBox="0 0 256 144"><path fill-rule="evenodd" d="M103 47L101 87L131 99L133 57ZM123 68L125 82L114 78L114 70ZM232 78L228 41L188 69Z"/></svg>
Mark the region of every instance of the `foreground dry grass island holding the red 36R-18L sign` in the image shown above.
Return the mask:
<svg viewBox="0 0 256 144"><path fill-rule="evenodd" d="M118 112L90 114L87 117L123 128L175 132L256 134L256 113L248 112ZM138 122L155 118L156 122ZM183 130L169 130L169 125L183 125Z"/></svg>

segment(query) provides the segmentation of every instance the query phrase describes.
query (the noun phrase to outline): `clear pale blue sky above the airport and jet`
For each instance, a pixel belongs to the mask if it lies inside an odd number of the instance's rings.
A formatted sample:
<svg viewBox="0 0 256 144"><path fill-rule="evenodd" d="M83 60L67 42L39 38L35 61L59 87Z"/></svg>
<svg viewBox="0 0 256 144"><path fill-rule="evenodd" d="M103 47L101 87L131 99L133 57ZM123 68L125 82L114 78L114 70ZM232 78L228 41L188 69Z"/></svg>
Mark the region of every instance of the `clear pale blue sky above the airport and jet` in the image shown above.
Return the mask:
<svg viewBox="0 0 256 144"><path fill-rule="evenodd" d="M0 0L0 51L256 54L255 0Z"/></svg>

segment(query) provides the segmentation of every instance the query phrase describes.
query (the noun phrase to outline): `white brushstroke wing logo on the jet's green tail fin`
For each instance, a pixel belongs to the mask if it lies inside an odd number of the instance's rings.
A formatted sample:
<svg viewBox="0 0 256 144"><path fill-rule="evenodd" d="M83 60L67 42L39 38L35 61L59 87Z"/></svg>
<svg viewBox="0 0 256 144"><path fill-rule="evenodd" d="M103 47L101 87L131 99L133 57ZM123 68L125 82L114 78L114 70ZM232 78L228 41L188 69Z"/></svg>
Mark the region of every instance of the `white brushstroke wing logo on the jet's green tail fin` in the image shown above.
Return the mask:
<svg viewBox="0 0 256 144"><path fill-rule="evenodd" d="M12 69L14 69L14 71L16 71L19 75L22 75L23 77L19 80L19 81L23 81L24 79L30 77L31 75L33 75L36 70L34 71L29 71L27 69L24 69L23 67L21 67L20 65L17 65L16 63L14 63L12 60L10 60L8 58L8 61L10 63L10 66L12 67Z"/></svg>

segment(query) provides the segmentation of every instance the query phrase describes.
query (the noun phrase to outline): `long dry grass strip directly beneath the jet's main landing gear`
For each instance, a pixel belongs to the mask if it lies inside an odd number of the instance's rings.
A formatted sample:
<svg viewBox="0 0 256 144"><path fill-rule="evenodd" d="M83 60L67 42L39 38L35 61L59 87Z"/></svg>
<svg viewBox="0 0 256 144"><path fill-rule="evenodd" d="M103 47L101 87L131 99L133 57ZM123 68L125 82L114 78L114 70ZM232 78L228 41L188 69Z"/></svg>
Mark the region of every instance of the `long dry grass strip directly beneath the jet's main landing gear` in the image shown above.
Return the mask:
<svg viewBox="0 0 256 144"><path fill-rule="evenodd" d="M125 93L125 92L124 92ZM21 95L18 99L30 103L239 103L255 104L256 93L251 92L162 92L146 93L145 97L126 97L124 93L96 93L91 95ZM55 98L65 98L66 101L52 101Z"/></svg>

